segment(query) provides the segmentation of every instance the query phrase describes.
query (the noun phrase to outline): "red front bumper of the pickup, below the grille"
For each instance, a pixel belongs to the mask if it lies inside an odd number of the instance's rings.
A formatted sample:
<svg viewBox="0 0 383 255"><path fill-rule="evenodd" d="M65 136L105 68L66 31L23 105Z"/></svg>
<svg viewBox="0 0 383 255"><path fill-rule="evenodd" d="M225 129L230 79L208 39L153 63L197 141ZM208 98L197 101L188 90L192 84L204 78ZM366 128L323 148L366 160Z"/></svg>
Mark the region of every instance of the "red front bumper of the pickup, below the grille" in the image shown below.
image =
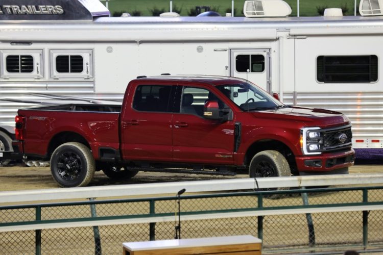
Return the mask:
<svg viewBox="0 0 383 255"><path fill-rule="evenodd" d="M353 149L341 152L331 152L322 155L307 155L295 157L298 171L306 174L338 173L339 169L354 165L355 151ZM337 171L338 170L338 171Z"/></svg>

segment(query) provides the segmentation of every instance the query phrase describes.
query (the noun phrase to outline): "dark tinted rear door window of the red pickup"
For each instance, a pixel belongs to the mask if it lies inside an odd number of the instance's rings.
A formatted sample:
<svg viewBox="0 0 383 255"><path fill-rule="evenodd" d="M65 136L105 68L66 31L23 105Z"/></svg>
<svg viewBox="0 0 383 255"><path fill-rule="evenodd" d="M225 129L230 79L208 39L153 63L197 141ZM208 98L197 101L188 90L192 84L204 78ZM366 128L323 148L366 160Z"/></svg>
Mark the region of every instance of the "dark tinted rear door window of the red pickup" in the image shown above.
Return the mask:
<svg viewBox="0 0 383 255"><path fill-rule="evenodd" d="M171 112L172 86L139 85L134 93L133 109L142 112Z"/></svg>

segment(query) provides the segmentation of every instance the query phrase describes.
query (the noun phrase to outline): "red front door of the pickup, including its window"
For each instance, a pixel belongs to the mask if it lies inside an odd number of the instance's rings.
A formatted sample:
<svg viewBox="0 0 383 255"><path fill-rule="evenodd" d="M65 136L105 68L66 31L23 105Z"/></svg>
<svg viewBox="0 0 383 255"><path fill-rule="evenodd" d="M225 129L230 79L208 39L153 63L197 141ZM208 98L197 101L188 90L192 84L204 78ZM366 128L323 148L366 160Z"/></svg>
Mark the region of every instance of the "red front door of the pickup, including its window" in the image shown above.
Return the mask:
<svg viewBox="0 0 383 255"><path fill-rule="evenodd" d="M174 161L233 164L234 121L222 123L222 120L203 117L203 107L208 97L219 97L199 86L179 86L178 90L181 97L176 104L180 110L173 115L172 129Z"/></svg>

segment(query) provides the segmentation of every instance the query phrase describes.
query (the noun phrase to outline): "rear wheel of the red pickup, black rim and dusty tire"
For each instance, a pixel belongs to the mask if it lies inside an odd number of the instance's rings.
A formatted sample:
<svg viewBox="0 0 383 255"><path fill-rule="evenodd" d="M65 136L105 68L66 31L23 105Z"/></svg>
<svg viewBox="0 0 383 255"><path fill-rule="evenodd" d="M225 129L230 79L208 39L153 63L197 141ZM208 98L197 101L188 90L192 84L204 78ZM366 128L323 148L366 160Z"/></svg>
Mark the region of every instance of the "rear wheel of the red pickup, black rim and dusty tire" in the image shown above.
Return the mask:
<svg viewBox="0 0 383 255"><path fill-rule="evenodd" d="M95 172L93 155L82 143L64 143L52 154L51 172L61 187L86 186Z"/></svg>

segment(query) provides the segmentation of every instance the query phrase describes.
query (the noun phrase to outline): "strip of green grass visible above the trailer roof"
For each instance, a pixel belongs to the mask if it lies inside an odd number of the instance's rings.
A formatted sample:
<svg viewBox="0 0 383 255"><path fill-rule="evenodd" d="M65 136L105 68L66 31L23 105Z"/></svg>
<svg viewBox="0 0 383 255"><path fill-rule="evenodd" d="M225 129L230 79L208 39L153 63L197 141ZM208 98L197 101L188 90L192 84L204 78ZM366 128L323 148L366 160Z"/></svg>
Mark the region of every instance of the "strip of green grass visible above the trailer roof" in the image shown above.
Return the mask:
<svg viewBox="0 0 383 255"><path fill-rule="evenodd" d="M101 1L105 5L105 0ZM291 16L297 16L297 1L285 0L290 6L292 11ZM357 1L358 4L359 1ZM109 0L109 10L113 15L114 12L141 12L141 16L152 16L150 10L164 9L169 11L169 0ZM236 9L235 16L243 16L243 5L245 1L234 1L234 8ZM318 16L317 7L328 8L341 8L347 5L348 11L343 15L354 14L354 0L300 0L300 16ZM188 16L190 9L195 9L196 6L210 6L211 8L218 9L221 15L225 15L226 10L230 9L230 0L173 0L173 9L181 9L181 16ZM358 13L358 10L357 10Z"/></svg>

